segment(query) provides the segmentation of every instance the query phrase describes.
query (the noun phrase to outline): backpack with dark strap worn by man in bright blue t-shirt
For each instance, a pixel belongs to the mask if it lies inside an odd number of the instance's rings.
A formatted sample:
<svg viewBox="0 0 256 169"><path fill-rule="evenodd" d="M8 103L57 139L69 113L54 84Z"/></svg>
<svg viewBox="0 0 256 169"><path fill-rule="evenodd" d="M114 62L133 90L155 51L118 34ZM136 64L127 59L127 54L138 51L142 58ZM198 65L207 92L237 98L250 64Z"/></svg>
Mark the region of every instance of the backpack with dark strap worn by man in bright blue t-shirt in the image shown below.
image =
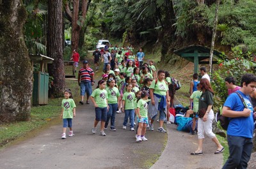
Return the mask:
<svg viewBox="0 0 256 169"><path fill-rule="evenodd" d="M244 98L241 96L241 94L239 94L239 92L235 92L235 93L236 93L236 94L239 96L239 98L241 99L241 101L242 101L244 107L247 108L247 105L246 105L246 103L245 103L245 101L244 101ZM222 108L223 108L223 106L220 107L219 110L218 110L218 112L216 113L216 119L215 119L215 120L216 120L216 122L217 122L218 128L227 130L227 129L228 129L228 124L229 124L229 122L230 122L230 119L229 119L229 117L225 117L225 116L222 115Z"/></svg>

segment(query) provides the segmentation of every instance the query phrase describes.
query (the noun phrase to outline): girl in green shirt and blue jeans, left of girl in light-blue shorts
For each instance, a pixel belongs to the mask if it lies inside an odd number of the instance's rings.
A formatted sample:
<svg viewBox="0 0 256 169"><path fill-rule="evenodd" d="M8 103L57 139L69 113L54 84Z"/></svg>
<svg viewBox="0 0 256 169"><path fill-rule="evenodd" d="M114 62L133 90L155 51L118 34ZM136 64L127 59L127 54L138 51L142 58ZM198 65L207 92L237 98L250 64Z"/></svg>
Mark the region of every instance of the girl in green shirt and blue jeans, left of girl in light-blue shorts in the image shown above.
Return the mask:
<svg viewBox="0 0 256 169"><path fill-rule="evenodd" d="M134 98L135 94L132 92L132 84L127 84L126 92L122 98L122 111L125 112L123 129L126 129L128 118L130 118L130 130L134 131Z"/></svg>

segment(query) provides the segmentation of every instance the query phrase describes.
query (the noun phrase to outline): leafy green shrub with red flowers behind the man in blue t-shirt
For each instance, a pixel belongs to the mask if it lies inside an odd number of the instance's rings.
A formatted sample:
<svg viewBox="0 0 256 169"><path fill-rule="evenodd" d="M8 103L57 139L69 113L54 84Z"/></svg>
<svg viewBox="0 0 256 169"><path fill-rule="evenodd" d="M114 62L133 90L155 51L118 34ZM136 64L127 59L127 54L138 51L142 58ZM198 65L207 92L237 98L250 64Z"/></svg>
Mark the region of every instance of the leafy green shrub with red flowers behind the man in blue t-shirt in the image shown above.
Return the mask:
<svg viewBox="0 0 256 169"><path fill-rule="evenodd" d="M241 85L241 77L244 73L256 73L256 64L253 59L254 55L252 53L243 53L241 49L233 49L232 59L218 61L219 68L212 74L212 87L215 91L217 107L220 107L228 96L225 78L232 76L236 78L236 85Z"/></svg>

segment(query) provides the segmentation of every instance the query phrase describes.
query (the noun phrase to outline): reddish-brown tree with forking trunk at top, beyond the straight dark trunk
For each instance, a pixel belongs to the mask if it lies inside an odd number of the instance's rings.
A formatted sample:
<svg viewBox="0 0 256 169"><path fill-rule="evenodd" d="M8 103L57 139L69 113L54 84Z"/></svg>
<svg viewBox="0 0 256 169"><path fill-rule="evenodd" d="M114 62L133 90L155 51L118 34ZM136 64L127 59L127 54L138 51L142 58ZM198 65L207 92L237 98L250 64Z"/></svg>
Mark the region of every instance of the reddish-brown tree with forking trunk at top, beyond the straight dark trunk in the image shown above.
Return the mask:
<svg viewBox="0 0 256 169"><path fill-rule="evenodd" d="M71 35L71 50L77 50L79 42L79 33L84 25L84 20L88 10L88 2L91 0L81 0L81 15L79 15L79 0L73 0L73 11L70 11L68 1L65 1L65 10L68 18L72 18L72 35Z"/></svg>

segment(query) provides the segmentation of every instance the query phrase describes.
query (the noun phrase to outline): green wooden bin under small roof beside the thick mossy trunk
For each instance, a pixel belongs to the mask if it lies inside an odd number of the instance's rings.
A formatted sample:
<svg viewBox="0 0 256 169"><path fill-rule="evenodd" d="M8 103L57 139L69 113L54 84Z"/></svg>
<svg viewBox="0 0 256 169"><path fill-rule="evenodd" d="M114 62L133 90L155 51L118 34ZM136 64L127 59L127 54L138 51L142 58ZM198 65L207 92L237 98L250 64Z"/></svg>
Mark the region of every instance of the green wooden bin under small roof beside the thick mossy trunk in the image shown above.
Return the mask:
<svg viewBox="0 0 256 169"><path fill-rule="evenodd" d="M34 72L33 74L33 93L32 105L47 105L48 104L48 89L49 89L49 73L42 71Z"/></svg>

